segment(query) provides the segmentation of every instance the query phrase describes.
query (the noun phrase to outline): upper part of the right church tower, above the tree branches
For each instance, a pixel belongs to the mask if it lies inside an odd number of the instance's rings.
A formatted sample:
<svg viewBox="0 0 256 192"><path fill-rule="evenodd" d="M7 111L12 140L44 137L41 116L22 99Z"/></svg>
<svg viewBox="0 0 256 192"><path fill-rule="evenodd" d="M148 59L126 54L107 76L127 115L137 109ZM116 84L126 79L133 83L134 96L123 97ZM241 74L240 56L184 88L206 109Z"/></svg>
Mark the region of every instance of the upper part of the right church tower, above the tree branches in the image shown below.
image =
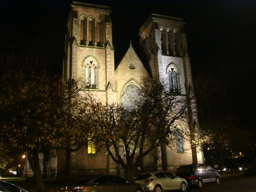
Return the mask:
<svg viewBox="0 0 256 192"><path fill-rule="evenodd" d="M140 51L153 77L169 81L176 94L186 94L192 74L183 19L152 14L140 28Z"/></svg>

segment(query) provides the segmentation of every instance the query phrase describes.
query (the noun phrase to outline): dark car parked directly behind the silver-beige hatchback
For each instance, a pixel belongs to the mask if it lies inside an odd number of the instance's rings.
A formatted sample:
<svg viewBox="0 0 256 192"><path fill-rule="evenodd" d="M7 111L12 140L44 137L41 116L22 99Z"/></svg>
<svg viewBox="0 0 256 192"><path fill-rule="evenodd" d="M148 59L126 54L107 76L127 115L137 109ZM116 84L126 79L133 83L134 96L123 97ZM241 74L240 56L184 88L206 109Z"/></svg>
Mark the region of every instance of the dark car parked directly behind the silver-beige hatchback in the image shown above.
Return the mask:
<svg viewBox="0 0 256 192"><path fill-rule="evenodd" d="M61 188L61 192L144 192L138 183L115 175L90 175Z"/></svg>

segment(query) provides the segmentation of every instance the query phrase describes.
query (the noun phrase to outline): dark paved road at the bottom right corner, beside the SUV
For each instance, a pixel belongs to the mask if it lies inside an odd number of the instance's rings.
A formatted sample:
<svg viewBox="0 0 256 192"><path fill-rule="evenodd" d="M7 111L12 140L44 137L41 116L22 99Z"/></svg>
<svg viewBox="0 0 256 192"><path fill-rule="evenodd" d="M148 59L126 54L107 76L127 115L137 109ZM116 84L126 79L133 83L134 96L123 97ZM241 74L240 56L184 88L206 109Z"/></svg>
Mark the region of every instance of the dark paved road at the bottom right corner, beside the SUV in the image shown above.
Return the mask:
<svg viewBox="0 0 256 192"><path fill-rule="evenodd" d="M201 189L192 188L188 192L256 192L256 176L221 180L215 184L204 185Z"/></svg>

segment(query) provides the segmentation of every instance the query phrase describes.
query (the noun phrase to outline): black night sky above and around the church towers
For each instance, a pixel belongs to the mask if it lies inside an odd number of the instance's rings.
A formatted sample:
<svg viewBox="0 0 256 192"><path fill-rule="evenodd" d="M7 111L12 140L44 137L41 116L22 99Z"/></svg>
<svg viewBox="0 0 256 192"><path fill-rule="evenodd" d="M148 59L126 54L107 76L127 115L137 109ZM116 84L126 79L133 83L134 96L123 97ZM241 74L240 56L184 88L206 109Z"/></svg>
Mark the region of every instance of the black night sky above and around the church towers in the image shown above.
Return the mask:
<svg viewBox="0 0 256 192"><path fill-rule="evenodd" d="M80 0L82 1L82 0ZM255 0L84 0L111 6L116 63L151 13L182 17L194 79L215 80L216 110L239 113L255 125ZM0 1L0 53L23 52L62 72L71 0ZM213 99L214 100L214 99Z"/></svg>

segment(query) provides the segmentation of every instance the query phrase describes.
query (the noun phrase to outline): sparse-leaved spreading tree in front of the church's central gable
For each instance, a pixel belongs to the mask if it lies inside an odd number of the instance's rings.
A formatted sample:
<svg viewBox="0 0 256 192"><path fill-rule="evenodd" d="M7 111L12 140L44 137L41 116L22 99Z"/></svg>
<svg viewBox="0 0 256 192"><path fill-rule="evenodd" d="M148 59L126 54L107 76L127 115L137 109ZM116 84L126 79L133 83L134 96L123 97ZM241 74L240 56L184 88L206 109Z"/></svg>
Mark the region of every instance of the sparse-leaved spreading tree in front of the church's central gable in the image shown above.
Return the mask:
<svg viewBox="0 0 256 192"><path fill-rule="evenodd" d="M164 82L147 78L135 108L104 104L90 97L81 113L93 119L94 141L106 149L113 161L133 180L137 166L161 143L173 145L177 135L189 134L186 96L174 95ZM125 155L124 155L125 154Z"/></svg>

